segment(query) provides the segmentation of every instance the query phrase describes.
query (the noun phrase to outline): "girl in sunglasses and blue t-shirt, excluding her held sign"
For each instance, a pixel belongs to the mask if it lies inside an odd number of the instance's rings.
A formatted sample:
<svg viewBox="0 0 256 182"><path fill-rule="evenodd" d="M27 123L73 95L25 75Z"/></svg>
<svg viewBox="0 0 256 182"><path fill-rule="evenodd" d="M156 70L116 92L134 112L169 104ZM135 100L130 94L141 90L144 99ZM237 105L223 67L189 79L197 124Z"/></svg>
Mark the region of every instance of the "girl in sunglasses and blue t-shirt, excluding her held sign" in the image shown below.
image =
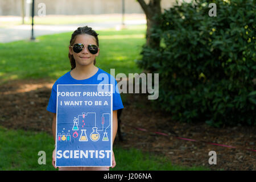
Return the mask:
<svg viewBox="0 0 256 182"><path fill-rule="evenodd" d="M79 27L71 36L68 57L71 63L71 71L61 76L52 86L51 97L47 110L53 113L52 133L56 137L56 91L57 84L100 84L102 82L100 73L108 75L109 83L113 83L113 143L117 134L117 110L123 108L121 96L117 88L117 81L109 73L95 66L96 57L100 52L98 44L98 34L92 28L85 26ZM112 80L112 82L110 82ZM105 81L105 80L104 80ZM55 166L55 149L52 152L52 165ZM113 166L115 167L115 158L113 152ZM109 167L59 167L59 170L93 170L107 171Z"/></svg>

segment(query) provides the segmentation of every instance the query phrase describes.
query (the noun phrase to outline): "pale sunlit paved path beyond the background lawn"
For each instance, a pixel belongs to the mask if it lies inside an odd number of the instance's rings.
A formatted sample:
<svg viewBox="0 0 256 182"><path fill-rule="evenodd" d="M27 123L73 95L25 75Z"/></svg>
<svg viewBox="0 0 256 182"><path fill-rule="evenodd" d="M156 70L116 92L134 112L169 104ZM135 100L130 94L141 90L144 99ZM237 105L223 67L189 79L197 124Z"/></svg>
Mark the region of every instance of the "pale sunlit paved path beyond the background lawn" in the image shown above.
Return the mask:
<svg viewBox="0 0 256 182"><path fill-rule="evenodd" d="M146 20L126 20L126 25L146 24ZM61 25L34 25L34 36L57 34L60 32L75 31L80 26L92 27L93 30L104 28L115 28L121 25L120 22L103 23L80 23L80 24L61 24ZM0 28L0 43L13 42L16 40L29 40L31 38L31 25L23 24L19 26Z"/></svg>

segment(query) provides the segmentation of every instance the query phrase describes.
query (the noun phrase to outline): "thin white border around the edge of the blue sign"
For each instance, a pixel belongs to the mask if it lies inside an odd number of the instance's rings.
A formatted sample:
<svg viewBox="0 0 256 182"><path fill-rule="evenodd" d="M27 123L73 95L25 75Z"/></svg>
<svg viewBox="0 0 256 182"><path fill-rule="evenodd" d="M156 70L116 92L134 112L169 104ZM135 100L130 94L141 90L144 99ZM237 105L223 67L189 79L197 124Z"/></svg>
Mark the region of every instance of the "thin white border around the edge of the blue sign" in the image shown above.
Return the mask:
<svg viewBox="0 0 256 182"><path fill-rule="evenodd" d="M58 88L59 85L112 85L110 86L110 92L111 94L111 111L110 111L110 129L111 129L111 139L110 139L110 146L111 146L111 152L110 152L110 165L111 166L57 166L57 118L58 118ZM57 101L56 101L56 132L55 132L55 166L56 167L112 167L113 166L113 84L57 84Z"/></svg>

